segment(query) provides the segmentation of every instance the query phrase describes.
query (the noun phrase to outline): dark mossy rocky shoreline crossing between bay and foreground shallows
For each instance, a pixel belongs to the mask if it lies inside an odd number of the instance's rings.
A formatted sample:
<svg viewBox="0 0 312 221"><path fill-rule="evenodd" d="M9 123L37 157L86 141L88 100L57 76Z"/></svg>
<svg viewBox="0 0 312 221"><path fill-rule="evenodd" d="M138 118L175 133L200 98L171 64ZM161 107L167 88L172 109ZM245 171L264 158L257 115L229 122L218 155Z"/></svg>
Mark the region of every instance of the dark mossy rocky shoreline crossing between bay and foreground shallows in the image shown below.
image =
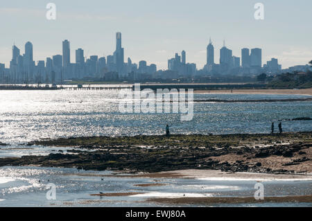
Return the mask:
<svg viewBox="0 0 312 221"><path fill-rule="evenodd" d="M312 173L312 132L45 139L27 145L75 147L47 156L2 158L0 166L66 167L155 173L212 169ZM81 149L81 150L80 150Z"/></svg>

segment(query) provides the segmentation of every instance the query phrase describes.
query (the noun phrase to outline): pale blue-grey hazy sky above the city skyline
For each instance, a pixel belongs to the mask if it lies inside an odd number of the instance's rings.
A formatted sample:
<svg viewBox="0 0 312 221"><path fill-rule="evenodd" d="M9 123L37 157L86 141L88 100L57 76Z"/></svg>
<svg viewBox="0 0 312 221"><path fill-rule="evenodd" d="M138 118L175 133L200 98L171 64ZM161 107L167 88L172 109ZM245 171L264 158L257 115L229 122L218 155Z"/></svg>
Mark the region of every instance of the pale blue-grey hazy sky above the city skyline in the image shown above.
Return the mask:
<svg viewBox="0 0 312 221"><path fill-rule="evenodd" d="M55 3L56 19L46 19L47 3ZM264 19L254 19L255 3L263 3ZM33 58L62 54L62 41L85 56L107 56L122 33L125 62L146 60L166 69L175 53L187 52L198 69L206 63L211 37L219 63L223 40L233 55L241 48L262 48L263 64L277 58L282 68L312 60L311 0L0 0L0 62L9 66L12 45L24 53L33 43Z"/></svg>

